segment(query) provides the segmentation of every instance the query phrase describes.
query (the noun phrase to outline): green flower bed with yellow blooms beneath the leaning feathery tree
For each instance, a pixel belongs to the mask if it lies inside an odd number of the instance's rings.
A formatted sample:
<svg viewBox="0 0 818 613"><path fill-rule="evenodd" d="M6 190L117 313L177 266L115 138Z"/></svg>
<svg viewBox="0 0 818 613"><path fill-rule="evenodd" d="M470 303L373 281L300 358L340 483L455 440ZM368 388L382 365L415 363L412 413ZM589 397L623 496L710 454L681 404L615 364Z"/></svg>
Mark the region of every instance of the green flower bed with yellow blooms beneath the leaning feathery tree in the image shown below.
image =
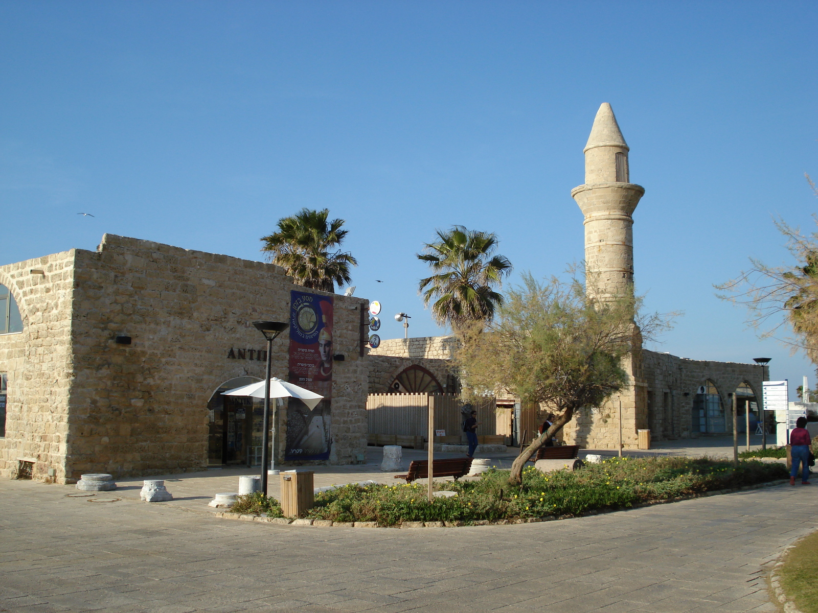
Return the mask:
<svg viewBox="0 0 818 613"><path fill-rule="evenodd" d="M304 517L335 522L375 521L378 526L405 522L526 520L629 508L681 496L756 485L787 477L780 464L731 463L689 458L614 458L574 471L543 474L526 468L523 484L511 487L509 472L489 470L474 481L437 481L435 490L456 496L429 503L426 485L345 485L315 496ZM231 512L282 517L275 499L241 497Z"/></svg>

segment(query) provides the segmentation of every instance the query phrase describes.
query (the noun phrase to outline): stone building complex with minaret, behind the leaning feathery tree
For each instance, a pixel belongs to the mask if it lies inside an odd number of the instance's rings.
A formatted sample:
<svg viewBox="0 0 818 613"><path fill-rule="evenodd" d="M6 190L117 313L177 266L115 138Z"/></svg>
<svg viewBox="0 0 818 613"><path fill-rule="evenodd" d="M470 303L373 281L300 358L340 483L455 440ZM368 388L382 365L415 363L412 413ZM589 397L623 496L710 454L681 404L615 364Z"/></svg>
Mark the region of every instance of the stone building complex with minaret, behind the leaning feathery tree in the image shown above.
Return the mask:
<svg viewBox="0 0 818 613"><path fill-rule="evenodd" d="M584 216L587 292L597 298L632 296L634 291L632 216L645 189L630 182L629 152L611 106L601 105L584 149L585 183L571 191ZM447 347L447 351L438 351L438 347ZM456 386L456 378L446 368L452 348L452 338L447 337L382 342L377 351L371 351L380 365L373 362L371 366L370 392L382 393L390 385L402 391L395 386L402 369L409 367L423 367L439 381L447 378ZM687 360L641 347L622 365L629 378L627 387L605 406L575 415L562 432L565 442L614 449L620 426L622 445L631 449L637 446L639 430L650 430L654 441L723 435L732 432L734 394L739 431L744 432L744 408L749 403L749 426L755 432L762 367ZM537 410L509 398L498 398L497 409L509 415L517 441L523 437L520 428L542 423L547 413L546 407ZM536 415L527 414L535 411Z"/></svg>

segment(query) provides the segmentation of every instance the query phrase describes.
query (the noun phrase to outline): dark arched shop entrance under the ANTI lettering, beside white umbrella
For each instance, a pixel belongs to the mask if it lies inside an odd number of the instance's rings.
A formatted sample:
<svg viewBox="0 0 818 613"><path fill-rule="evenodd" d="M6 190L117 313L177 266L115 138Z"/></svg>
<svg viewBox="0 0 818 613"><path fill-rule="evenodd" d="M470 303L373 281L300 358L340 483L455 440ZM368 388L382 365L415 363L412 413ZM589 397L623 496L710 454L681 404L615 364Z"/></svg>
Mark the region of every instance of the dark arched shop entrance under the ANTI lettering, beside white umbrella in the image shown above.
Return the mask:
<svg viewBox="0 0 818 613"><path fill-rule="evenodd" d="M261 379L236 377L222 383L207 405L209 420L208 465L257 466L261 463L263 401L244 396L222 396Z"/></svg>

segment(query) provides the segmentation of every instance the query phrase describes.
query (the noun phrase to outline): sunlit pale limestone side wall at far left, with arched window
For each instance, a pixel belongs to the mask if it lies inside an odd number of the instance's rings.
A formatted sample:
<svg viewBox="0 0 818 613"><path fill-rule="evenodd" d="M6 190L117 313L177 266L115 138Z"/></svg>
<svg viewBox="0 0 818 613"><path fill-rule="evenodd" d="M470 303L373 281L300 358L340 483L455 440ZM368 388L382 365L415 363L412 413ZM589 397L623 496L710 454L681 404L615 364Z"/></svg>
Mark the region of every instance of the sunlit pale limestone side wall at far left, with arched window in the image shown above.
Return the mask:
<svg viewBox="0 0 818 613"><path fill-rule="evenodd" d="M65 478L74 251L0 266L0 284L15 298L21 333L0 334L0 373L8 375L6 436L0 438L0 477L34 463L34 478Z"/></svg>

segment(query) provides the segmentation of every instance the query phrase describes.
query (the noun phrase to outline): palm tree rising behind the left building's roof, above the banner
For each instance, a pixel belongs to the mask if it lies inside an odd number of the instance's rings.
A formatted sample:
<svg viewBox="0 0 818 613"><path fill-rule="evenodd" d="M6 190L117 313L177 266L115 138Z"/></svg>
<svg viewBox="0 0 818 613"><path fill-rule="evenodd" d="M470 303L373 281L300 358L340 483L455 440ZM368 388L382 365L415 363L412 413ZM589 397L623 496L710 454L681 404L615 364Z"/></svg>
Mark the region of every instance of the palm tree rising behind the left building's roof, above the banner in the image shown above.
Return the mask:
<svg viewBox="0 0 818 613"><path fill-rule="evenodd" d="M302 208L292 217L278 220L278 231L263 236L262 251L269 252L268 260L281 266L295 282L307 288L335 292L335 284L348 284L350 266L357 260L340 250L330 253L347 235L343 219L327 221L330 209L313 211Z"/></svg>

